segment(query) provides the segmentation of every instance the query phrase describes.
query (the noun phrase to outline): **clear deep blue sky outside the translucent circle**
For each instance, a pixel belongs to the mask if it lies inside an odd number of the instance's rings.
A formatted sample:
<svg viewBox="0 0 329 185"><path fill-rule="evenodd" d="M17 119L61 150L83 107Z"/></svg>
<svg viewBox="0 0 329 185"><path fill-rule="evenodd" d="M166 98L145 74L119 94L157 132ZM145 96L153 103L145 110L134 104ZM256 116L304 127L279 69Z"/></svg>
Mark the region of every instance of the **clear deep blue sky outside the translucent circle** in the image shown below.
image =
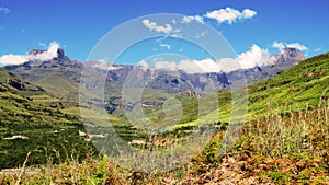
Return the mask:
<svg viewBox="0 0 329 185"><path fill-rule="evenodd" d="M120 24L147 14L204 15L214 10L250 9L251 19L218 23L207 21L237 54L253 45L280 53L274 42L300 44L308 57L329 51L329 12L326 0L0 0L0 56L21 55L58 42L66 54L86 60L98 41ZM46 45L46 46L44 46Z"/></svg>

